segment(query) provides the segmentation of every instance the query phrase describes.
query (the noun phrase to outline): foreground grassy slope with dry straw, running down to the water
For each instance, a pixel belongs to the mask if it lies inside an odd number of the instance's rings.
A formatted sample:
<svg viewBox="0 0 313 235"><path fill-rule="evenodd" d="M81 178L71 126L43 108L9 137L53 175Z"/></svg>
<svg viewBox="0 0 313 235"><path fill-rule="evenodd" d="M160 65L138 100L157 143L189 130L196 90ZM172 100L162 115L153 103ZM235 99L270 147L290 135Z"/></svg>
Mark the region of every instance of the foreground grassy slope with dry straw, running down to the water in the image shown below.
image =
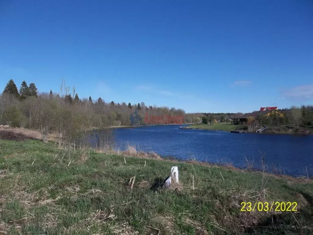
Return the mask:
<svg viewBox="0 0 313 235"><path fill-rule="evenodd" d="M69 164L63 153L52 143L0 140L0 234L313 231L311 180L262 180L261 173L127 156L125 164L124 156L93 152L86 161L72 153ZM178 165L181 187L151 190L172 165ZM297 201L299 212L240 212L240 202L264 196L269 202Z"/></svg>

